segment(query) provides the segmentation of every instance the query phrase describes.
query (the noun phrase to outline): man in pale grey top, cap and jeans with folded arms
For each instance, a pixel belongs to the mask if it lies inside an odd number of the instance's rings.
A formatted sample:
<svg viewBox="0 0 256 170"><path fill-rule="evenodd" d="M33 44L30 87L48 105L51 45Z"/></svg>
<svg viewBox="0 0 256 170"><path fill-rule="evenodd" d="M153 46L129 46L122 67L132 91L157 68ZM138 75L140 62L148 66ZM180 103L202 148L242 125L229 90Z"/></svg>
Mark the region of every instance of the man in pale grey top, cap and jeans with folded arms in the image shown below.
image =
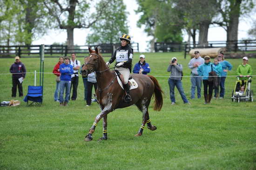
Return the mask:
<svg viewBox="0 0 256 170"><path fill-rule="evenodd" d="M197 89L197 98L201 98L202 77L198 77L197 68L204 63L204 59L200 56L199 51L195 51L194 54L195 57L189 61L189 68L191 69L191 99L195 98L195 87Z"/></svg>

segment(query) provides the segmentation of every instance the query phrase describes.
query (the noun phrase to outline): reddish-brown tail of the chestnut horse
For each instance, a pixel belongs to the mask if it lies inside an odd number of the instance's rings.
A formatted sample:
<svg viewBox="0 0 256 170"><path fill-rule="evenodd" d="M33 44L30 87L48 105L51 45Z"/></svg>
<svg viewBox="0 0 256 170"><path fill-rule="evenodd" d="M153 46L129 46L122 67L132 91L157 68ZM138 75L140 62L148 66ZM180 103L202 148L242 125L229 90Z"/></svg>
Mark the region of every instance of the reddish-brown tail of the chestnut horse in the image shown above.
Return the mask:
<svg viewBox="0 0 256 170"><path fill-rule="evenodd" d="M155 111L160 111L162 109L162 89L157 81L157 79L153 76L148 75L148 77L153 81L154 85L155 85L155 101L154 101L154 110Z"/></svg>

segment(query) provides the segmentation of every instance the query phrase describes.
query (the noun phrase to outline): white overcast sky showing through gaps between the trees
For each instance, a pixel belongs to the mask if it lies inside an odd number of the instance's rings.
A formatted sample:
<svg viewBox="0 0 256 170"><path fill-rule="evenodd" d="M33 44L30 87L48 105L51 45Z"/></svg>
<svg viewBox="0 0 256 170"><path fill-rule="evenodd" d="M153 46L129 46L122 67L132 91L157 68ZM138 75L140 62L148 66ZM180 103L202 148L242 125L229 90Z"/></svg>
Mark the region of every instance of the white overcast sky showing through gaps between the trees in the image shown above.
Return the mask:
<svg viewBox="0 0 256 170"><path fill-rule="evenodd" d="M135 14L135 11L138 8L136 0L124 0L124 3L127 6L129 15L128 15L128 26L129 26L129 35L131 35L132 42L139 43L139 51L147 52L149 51L148 41L152 39L147 36L147 33L144 32L144 27L137 27L137 21L140 18L140 15ZM252 18L256 18L252 17ZM248 38L247 31L252 25L252 20L242 19L239 22L238 26L238 39L246 39ZM86 45L86 34L88 33L88 29L74 29L74 44L83 46ZM120 35L121 36L121 35ZM226 41L227 33L222 27L213 27L210 26L208 33L208 41ZM184 41L188 39L186 34L183 35ZM64 43L67 39L66 31L57 31L57 30L49 30L47 35L41 37L33 41L33 45L51 45L54 42ZM198 35L196 36L198 40Z"/></svg>

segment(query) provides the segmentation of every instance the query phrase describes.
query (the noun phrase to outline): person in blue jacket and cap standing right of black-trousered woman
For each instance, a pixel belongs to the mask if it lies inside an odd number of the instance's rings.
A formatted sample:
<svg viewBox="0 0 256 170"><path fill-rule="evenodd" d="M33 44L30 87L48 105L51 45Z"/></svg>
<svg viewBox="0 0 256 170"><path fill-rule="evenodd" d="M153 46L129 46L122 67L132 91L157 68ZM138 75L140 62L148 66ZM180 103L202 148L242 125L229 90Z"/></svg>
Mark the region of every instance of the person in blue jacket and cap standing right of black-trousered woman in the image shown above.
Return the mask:
<svg viewBox="0 0 256 170"><path fill-rule="evenodd" d="M219 64L222 65L222 72L220 72L220 74L221 74L220 98L224 98L224 95L225 95L225 79L226 79L226 76L227 76L227 72L232 69L232 65L228 61L224 60L224 55L222 53L219 53L218 60L219 60Z"/></svg>

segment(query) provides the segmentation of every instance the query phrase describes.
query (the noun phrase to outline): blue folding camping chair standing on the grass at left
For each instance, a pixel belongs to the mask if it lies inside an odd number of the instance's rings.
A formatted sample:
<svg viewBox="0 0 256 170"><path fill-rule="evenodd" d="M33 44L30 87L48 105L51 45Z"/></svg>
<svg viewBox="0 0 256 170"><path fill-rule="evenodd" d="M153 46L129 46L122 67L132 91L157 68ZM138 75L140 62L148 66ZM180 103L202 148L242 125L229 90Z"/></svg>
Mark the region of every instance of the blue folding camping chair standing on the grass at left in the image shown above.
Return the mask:
<svg viewBox="0 0 256 170"><path fill-rule="evenodd" d="M32 86L29 85L27 87L27 95L25 96L25 98L23 99L24 102L27 102L27 106L28 105L28 101L32 101L31 104L35 103L36 105L41 105L43 102L43 88L42 86Z"/></svg>

